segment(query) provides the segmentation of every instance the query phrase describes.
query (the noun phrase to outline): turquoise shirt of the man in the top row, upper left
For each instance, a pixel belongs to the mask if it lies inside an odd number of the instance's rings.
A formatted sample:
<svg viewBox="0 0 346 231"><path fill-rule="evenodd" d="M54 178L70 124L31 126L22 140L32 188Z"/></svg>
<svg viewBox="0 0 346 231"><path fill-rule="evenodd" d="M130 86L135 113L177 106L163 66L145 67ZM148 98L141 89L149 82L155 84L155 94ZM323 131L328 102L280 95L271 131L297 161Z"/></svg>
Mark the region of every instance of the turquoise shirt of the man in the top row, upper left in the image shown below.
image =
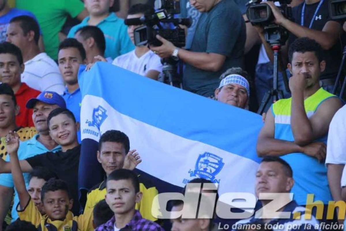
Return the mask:
<svg viewBox="0 0 346 231"><path fill-rule="evenodd" d="M72 27L67 37L73 38L79 28L88 26L89 18L90 16L84 18L80 24ZM124 24L124 20L118 18L114 13L110 13L100 21L97 27L102 30L106 39L104 57L115 59L119 55L126 54L135 49L134 44L127 34L127 26Z"/></svg>

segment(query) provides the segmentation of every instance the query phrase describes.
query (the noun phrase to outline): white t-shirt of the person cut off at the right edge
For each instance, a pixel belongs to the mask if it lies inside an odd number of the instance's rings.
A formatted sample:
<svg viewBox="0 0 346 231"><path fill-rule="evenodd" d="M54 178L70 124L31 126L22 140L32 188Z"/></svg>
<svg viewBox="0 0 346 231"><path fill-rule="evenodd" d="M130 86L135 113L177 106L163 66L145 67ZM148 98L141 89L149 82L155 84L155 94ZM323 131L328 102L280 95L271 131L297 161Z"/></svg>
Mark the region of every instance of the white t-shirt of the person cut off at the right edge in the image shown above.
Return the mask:
<svg viewBox="0 0 346 231"><path fill-rule="evenodd" d="M329 125L326 165L346 164L346 105L334 115Z"/></svg>

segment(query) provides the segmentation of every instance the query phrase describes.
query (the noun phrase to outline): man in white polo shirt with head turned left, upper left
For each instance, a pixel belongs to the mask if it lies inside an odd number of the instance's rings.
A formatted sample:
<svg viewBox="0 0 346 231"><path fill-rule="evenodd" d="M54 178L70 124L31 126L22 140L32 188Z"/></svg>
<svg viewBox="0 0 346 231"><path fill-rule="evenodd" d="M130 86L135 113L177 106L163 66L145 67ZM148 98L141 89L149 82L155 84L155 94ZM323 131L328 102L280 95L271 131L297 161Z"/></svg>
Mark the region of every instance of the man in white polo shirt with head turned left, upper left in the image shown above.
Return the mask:
<svg viewBox="0 0 346 231"><path fill-rule="evenodd" d="M25 69L21 81L39 91L63 94L64 83L57 64L38 47L39 26L30 16L11 19L6 32L7 41L18 46L22 52Z"/></svg>

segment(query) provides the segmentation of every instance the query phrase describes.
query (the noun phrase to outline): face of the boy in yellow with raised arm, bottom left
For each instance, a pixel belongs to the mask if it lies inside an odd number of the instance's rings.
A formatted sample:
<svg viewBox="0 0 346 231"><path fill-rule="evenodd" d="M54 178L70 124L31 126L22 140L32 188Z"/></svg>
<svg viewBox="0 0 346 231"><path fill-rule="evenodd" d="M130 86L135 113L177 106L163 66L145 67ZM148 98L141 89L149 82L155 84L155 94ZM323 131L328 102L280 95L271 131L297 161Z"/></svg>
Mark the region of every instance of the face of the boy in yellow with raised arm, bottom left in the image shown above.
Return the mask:
<svg viewBox="0 0 346 231"><path fill-rule="evenodd" d="M67 212L72 208L73 199L65 190L48 191L44 194L43 207L46 215L52 220L65 220Z"/></svg>

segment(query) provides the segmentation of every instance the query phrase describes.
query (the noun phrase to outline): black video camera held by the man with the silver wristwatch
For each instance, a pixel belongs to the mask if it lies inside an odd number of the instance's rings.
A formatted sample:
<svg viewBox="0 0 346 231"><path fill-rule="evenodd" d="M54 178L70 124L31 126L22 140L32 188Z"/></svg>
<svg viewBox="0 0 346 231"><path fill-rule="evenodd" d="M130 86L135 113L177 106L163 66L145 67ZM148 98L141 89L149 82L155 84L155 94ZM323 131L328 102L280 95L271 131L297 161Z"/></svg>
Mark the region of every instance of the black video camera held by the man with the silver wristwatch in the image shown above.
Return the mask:
<svg viewBox="0 0 346 231"><path fill-rule="evenodd" d="M174 18L174 14L180 13L180 2L177 0L156 0L156 12L144 15L140 18L126 19L126 25L143 25L134 30L136 46L147 44L161 46L162 43L156 35L172 42L174 46L185 46L185 30L179 25L190 27L191 18Z"/></svg>

